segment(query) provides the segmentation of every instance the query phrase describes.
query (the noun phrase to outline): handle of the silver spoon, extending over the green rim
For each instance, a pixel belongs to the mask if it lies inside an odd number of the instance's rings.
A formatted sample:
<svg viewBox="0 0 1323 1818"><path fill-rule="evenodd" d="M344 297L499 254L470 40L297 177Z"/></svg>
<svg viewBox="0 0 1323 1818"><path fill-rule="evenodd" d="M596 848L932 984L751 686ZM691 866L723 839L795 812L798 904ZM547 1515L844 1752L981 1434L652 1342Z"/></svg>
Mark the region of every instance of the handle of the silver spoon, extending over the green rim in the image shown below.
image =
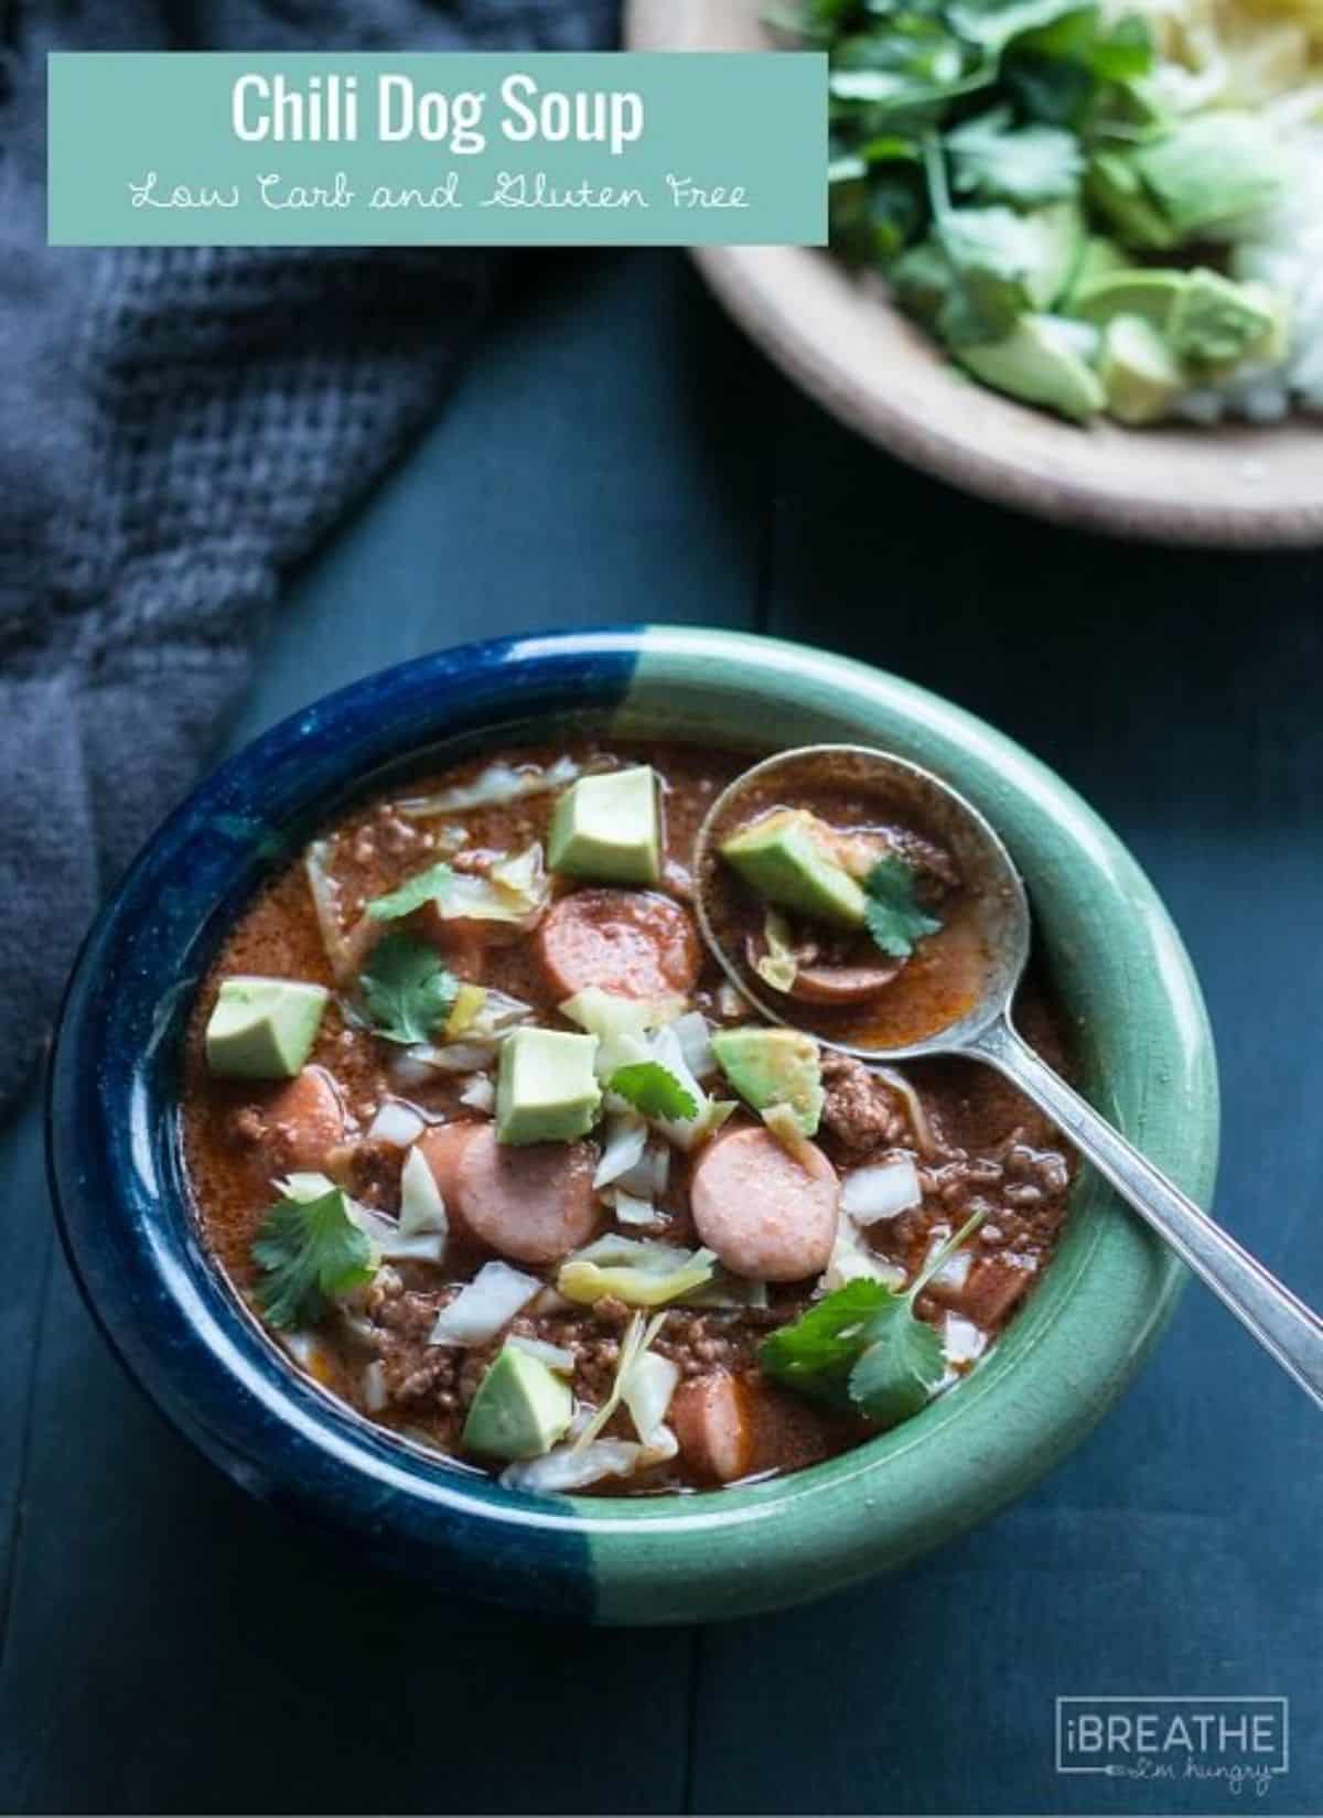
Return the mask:
<svg viewBox="0 0 1323 1818"><path fill-rule="evenodd" d="M1099 1118L1007 1020L990 1024L965 1053L989 1062L1032 1098L1323 1407L1323 1320L1316 1313Z"/></svg>

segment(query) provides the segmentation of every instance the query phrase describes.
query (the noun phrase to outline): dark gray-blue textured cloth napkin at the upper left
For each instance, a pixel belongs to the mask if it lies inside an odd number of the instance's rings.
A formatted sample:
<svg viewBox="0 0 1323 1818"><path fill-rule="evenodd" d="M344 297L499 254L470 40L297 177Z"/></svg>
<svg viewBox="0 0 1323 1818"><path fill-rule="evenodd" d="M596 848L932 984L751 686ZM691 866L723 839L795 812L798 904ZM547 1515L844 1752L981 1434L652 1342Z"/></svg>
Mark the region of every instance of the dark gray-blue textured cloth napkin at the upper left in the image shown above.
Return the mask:
<svg viewBox="0 0 1323 1818"><path fill-rule="evenodd" d="M614 0L0 0L0 1114L282 571L438 404L500 260L49 249L51 49L596 49Z"/></svg>

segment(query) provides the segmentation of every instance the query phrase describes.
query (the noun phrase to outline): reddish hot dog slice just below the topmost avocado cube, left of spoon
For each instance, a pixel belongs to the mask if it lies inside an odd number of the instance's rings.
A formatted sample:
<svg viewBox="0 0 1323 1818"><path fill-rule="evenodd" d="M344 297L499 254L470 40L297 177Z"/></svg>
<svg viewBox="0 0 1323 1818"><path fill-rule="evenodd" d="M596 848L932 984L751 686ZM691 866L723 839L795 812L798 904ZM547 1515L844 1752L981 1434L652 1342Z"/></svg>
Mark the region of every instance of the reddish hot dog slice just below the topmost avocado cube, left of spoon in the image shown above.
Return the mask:
<svg viewBox="0 0 1323 1818"><path fill-rule="evenodd" d="M574 891L536 933L556 998L600 985L622 998L689 996L698 982L698 931L685 909L651 891Z"/></svg>

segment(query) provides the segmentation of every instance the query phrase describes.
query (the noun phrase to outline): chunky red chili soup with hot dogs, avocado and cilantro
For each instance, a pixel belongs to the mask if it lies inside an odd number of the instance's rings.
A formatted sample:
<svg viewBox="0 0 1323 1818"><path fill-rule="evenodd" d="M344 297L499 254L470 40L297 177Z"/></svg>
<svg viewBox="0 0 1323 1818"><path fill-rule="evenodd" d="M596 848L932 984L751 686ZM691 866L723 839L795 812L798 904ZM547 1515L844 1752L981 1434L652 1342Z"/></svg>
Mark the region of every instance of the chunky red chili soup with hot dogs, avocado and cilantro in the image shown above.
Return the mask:
<svg viewBox="0 0 1323 1818"><path fill-rule="evenodd" d="M362 1416L512 1487L856 1445L978 1365L1065 1218L1067 1151L989 1069L869 1069L707 954L694 840L747 764L583 738L396 784L271 878L193 1013L185 1160L234 1291ZM970 989L958 854L849 785L756 809L720 862L796 1020ZM1034 980L1020 1020L1059 1065Z"/></svg>

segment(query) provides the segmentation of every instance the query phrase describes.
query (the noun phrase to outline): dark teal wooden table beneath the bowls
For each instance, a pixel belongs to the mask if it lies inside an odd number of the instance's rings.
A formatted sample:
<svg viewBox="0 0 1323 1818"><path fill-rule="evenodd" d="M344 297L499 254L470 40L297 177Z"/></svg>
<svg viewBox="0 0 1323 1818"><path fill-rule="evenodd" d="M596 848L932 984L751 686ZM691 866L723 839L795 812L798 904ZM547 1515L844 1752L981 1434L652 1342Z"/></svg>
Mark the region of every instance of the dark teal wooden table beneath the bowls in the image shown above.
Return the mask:
<svg viewBox="0 0 1323 1818"><path fill-rule="evenodd" d="M1321 578L961 500L792 393L680 256L589 256L529 284L300 578L227 736L442 644L620 618L950 694L1154 874L1221 1049L1218 1209L1323 1304ZM0 1169L0 1809L1323 1809L1323 1429L1196 1287L1105 1425L963 1542L787 1616L594 1633L376 1576L222 1482L84 1314L35 1109ZM1263 1798L1059 1776L1076 1693L1285 1694L1290 1771Z"/></svg>

